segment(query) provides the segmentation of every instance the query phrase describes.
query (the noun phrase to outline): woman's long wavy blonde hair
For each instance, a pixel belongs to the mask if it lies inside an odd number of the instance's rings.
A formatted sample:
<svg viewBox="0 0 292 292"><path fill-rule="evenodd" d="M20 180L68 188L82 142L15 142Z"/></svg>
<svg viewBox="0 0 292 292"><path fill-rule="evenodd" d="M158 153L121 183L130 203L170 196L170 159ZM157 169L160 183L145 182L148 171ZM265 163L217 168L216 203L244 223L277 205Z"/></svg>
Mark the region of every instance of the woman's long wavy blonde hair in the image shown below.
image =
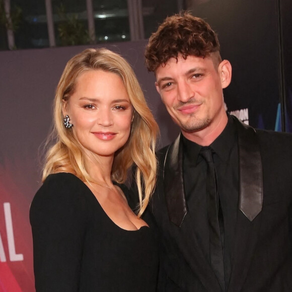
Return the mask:
<svg viewBox="0 0 292 292"><path fill-rule="evenodd" d="M54 128L50 140L55 143L48 150L42 180L49 174L70 172L83 181L93 182L84 157L84 150L71 129L63 125L62 104L75 91L76 80L88 70L114 72L123 81L134 108L130 136L126 144L114 156L111 179L124 183L127 172L136 165L135 179L139 194L140 216L154 191L157 160L155 156L158 125L147 106L143 92L129 63L119 54L108 49L86 49L72 57L66 64L56 89L53 105Z"/></svg>

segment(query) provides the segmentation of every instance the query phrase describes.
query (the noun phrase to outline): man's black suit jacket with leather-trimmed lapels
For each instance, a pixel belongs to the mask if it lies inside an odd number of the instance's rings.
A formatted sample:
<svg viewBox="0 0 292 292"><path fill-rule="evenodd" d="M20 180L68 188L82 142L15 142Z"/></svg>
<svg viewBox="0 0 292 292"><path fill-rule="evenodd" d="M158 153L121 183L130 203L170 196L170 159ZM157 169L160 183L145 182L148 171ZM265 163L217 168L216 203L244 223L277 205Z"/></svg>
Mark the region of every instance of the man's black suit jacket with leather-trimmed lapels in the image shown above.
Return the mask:
<svg viewBox="0 0 292 292"><path fill-rule="evenodd" d="M234 117L239 206L228 291L292 291L292 135L254 130ZM148 208L161 242L160 291L221 291L196 246L183 187L180 136L159 154Z"/></svg>

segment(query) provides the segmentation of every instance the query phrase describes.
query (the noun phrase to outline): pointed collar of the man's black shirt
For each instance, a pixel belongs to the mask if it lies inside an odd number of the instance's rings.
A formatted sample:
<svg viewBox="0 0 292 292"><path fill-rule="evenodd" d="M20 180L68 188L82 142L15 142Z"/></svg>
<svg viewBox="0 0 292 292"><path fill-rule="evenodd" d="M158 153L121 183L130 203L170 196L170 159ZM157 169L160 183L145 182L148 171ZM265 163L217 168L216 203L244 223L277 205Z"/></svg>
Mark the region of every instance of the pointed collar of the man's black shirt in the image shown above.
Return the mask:
<svg viewBox="0 0 292 292"><path fill-rule="evenodd" d="M183 136L184 156L189 161L197 161L201 145L188 140ZM230 115L228 115L228 122L222 133L210 144L212 150L222 159L227 161L234 143L237 141L236 125Z"/></svg>

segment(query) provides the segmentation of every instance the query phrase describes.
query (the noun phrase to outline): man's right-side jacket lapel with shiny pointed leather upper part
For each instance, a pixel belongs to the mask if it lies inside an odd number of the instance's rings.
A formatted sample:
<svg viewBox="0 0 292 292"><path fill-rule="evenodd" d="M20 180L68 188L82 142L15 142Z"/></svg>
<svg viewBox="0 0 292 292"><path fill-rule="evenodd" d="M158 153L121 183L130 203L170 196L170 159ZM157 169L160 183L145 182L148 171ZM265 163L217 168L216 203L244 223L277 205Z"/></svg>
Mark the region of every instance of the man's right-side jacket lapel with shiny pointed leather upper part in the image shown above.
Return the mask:
<svg viewBox="0 0 292 292"><path fill-rule="evenodd" d="M237 214L232 271L228 291L240 291L247 276L263 205L263 173L255 130L234 118L238 130L239 210Z"/></svg>

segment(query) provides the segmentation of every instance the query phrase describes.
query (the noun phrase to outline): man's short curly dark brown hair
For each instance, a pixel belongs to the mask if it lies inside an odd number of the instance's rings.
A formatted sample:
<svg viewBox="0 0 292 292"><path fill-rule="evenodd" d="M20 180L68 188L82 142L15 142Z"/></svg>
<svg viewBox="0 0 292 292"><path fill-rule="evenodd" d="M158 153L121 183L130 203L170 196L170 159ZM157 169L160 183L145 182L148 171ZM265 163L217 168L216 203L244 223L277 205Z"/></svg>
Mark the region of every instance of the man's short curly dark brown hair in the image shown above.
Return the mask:
<svg viewBox="0 0 292 292"><path fill-rule="evenodd" d="M203 19L188 12L167 17L153 33L145 50L146 66L149 71L156 71L161 64L181 54L206 57L217 52L221 60L220 44L216 33Z"/></svg>

